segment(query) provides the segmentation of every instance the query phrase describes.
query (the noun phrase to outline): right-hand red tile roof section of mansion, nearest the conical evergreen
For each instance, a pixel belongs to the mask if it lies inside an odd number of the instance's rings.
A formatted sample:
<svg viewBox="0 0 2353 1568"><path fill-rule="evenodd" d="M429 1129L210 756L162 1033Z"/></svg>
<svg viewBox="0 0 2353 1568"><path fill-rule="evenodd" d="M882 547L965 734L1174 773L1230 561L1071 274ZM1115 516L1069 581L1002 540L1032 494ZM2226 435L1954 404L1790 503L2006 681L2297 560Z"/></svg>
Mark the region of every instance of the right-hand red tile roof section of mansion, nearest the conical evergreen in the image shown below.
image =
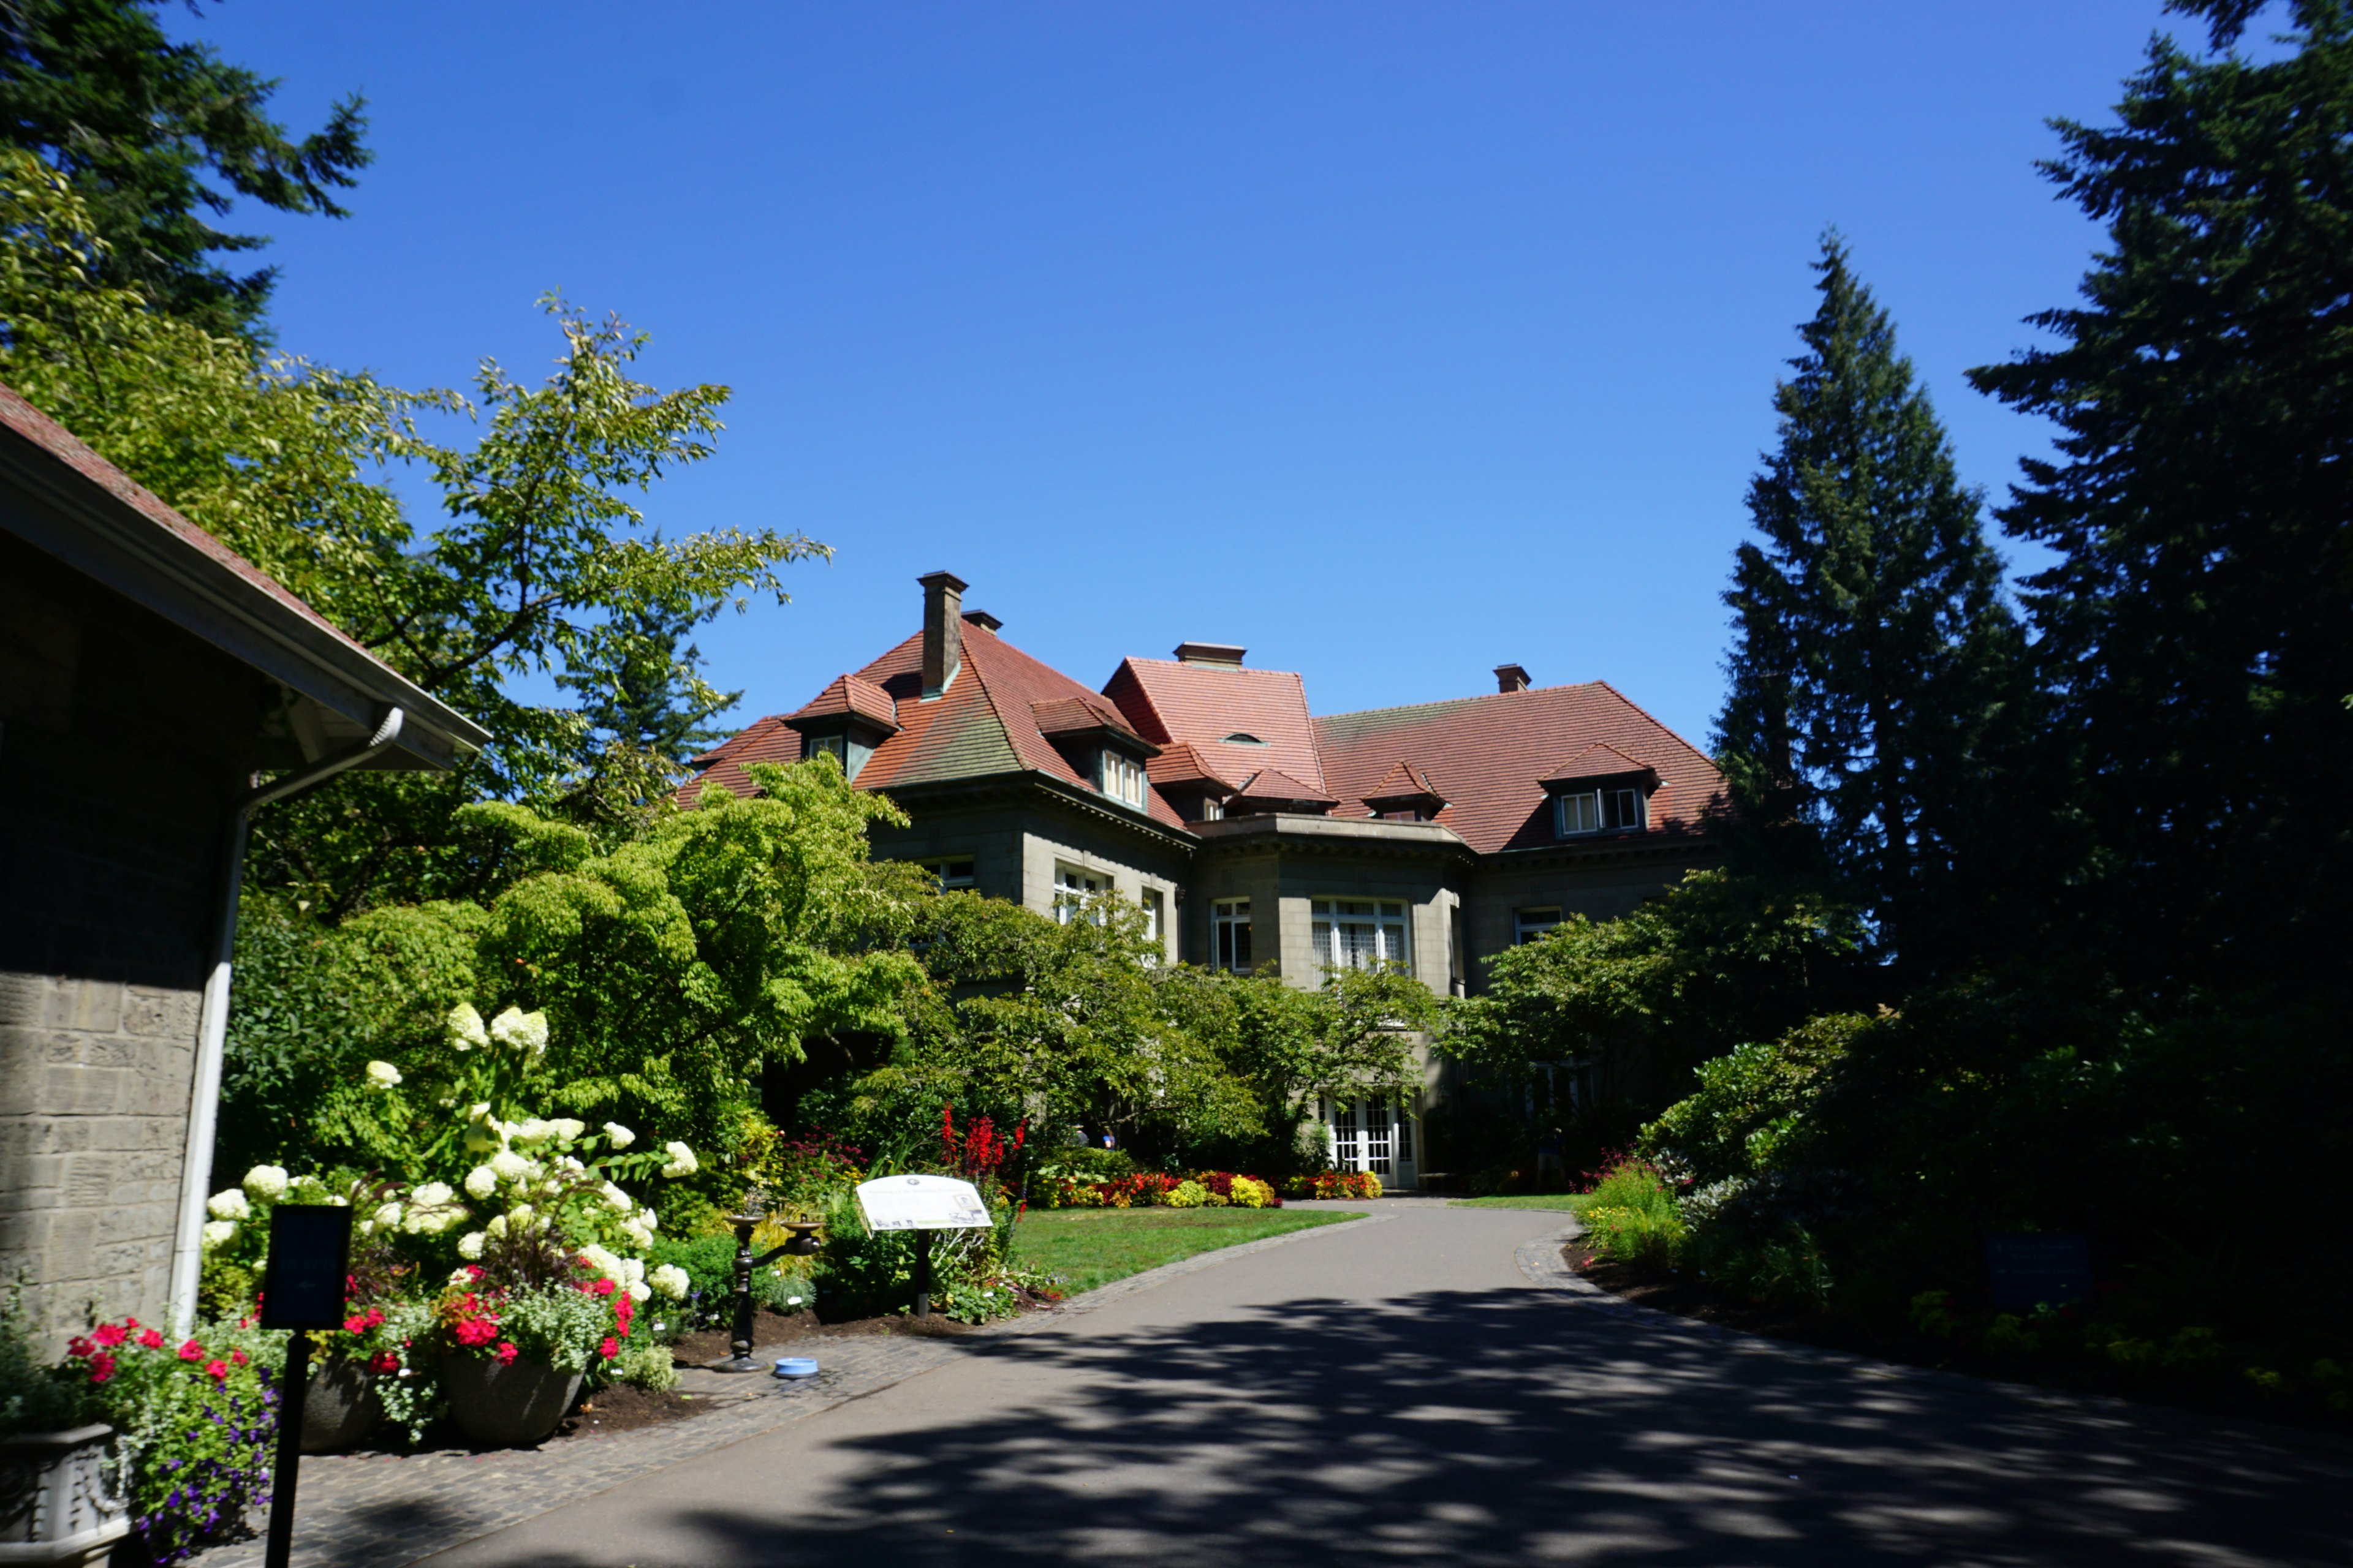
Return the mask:
<svg viewBox="0 0 2353 1568"><path fill-rule="evenodd" d="M1657 769L1649 820L1659 832L1704 832L1722 799L1715 764L1607 682L1334 712L1315 719L1315 736L1325 780L1344 799L1365 799L1398 757L1417 757L1449 802L1438 820L1478 853L1553 844L1544 778L1560 757L1595 745ZM1369 813L1344 806L1337 816Z"/></svg>

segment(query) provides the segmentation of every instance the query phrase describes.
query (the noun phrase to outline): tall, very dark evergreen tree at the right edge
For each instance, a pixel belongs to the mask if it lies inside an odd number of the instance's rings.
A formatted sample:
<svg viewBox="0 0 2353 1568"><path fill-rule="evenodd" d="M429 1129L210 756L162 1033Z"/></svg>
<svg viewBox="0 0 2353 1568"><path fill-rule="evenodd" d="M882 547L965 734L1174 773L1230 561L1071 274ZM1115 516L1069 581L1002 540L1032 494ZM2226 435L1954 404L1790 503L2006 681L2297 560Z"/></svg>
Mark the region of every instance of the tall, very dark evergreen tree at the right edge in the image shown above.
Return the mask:
<svg viewBox="0 0 2353 1568"><path fill-rule="evenodd" d="M2224 49L2259 5L2207 0ZM2052 418L2000 512L2097 853L2087 926L2139 994L2341 985L2353 929L2353 7L2280 59L2151 45L2049 176L2108 228L2057 346L1972 371Z"/></svg>

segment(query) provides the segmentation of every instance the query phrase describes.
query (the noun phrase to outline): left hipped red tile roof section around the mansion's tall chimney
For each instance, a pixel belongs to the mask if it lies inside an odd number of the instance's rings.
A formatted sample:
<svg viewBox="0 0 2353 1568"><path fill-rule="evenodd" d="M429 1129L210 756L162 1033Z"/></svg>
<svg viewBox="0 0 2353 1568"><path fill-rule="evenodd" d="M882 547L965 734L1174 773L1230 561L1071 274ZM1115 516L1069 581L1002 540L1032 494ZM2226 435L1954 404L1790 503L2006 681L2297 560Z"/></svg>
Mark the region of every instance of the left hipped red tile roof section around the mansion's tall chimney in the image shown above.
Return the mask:
<svg viewBox="0 0 2353 1568"><path fill-rule="evenodd" d="M948 689L932 701L922 701L922 632L849 677L882 691L899 712L899 733L878 745L875 755L859 769L859 788L894 790L1031 771L1092 792L1094 780L1073 769L1038 729L1038 710L1047 708L1061 715L1068 712L1061 708L1064 703L1078 703L1092 715L1089 726L1118 724L1125 729L1120 712L1061 670L1031 658L979 623L965 623L962 644L962 668ZM687 804L701 795L706 783L751 795L751 780L741 764L798 759L800 736L786 729L784 719L760 719L708 755L713 757L708 771L678 792ZM1158 790L1146 790L1144 799L1155 823L1181 825ZM1125 806L1120 809L1125 811Z"/></svg>

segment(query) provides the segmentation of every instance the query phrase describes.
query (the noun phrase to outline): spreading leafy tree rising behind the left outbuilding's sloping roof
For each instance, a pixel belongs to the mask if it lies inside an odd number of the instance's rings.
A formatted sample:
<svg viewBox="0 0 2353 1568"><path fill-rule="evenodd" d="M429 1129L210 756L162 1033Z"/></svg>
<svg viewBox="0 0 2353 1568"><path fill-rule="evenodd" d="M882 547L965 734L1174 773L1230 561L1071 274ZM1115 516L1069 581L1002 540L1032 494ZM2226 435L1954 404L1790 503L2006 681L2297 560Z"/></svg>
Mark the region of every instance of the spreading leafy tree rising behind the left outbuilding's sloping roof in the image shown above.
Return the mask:
<svg viewBox="0 0 2353 1568"><path fill-rule="evenodd" d="M673 618L781 602L776 569L828 552L779 529L664 541L647 524L633 496L711 456L727 388L633 378L645 336L619 320L544 299L565 343L555 374L525 386L485 362L468 402L209 334L111 284L106 256L64 176L0 155L0 378L494 736L456 773L348 773L261 813L252 879L325 919L482 893L482 844L459 813L473 799L626 837L678 759L511 682L555 675L591 703L626 691L633 672L675 668ZM426 440L426 409L478 418L478 440ZM412 524L386 463L431 470L438 527ZM692 672L680 686L718 701Z"/></svg>

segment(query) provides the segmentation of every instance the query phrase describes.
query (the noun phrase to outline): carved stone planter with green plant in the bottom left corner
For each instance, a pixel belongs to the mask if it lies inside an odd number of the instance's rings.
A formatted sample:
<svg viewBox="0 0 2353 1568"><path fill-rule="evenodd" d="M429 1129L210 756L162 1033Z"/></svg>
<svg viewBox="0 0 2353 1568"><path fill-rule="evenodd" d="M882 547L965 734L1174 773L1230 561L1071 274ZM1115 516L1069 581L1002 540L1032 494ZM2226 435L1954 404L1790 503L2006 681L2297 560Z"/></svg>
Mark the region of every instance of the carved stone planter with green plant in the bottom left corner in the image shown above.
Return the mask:
<svg viewBox="0 0 2353 1568"><path fill-rule="evenodd" d="M80 1375L47 1366L24 1291L0 1307L0 1563L101 1563L129 1535L115 1429Z"/></svg>

